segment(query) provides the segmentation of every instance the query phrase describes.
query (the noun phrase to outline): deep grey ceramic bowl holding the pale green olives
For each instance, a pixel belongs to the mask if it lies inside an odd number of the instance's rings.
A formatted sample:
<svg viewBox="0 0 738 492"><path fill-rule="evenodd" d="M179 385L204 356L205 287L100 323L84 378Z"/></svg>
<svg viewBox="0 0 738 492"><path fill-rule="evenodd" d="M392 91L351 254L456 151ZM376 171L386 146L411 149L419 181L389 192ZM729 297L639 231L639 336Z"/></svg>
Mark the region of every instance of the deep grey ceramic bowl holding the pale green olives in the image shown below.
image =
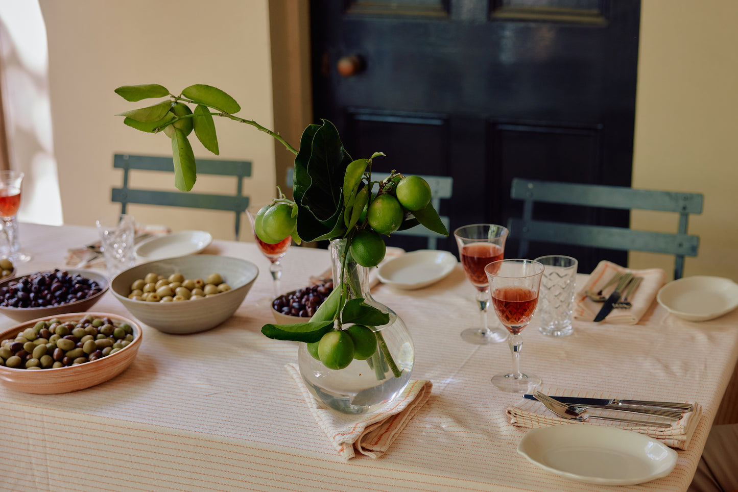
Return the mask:
<svg viewBox="0 0 738 492"><path fill-rule="evenodd" d="M179 302L146 302L128 299L131 284L148 273L168 277L183 274L187 279L207 278L219 273L231 290L212 297ZM128 311L146 325L164 333L184 334L208 330L226 319L244 302L259 269L254 263L240 258L216 254L195 254L156 260L128 268L111 282L111 291Z"/></svg>

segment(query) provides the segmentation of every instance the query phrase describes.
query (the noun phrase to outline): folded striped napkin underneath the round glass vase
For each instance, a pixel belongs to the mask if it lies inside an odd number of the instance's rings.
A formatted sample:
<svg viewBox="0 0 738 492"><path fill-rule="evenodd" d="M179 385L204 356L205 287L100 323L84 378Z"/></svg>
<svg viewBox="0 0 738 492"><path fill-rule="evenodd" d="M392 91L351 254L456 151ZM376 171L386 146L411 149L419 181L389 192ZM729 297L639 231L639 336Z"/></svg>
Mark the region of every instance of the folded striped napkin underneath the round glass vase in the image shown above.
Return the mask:
<svg viewBox="0 0 738 492"><path fill-rule="evenodd" d="M286 369L300 388L318 425L344 460L350 460L356 452L371 458L382 456L428 401L433 387L431 381L411 379L400 395L381 411L348 415L325 409L305 386L297 364L287 364Z"/></svg>

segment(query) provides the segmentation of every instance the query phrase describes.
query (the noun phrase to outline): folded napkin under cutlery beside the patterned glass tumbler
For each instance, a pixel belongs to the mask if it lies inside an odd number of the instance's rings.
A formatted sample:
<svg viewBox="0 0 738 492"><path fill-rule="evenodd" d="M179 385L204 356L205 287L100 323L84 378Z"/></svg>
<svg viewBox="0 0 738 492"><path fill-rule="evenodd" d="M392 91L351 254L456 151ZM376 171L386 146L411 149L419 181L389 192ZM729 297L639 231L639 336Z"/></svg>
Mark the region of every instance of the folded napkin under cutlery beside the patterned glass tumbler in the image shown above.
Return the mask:
<svg viewBox="0 0 738 492"><path fill-rule="evenodd" d="M663 287L666 282L666 274L661 268L649 268L646 270L633 270L616 265L610 261L601 261L590 274L587 284L584 288L576 293L574 297L574 319L581 321L593 321L595 316L602 307L602 302L594 302L584 294L584 291L599 291L613 275L618 273L631 273L637 277L643 277L641 285L633 294L632 308L629 309L613 309L605 319L608 323L620 325L636 325L641 317L646 313L658 294L658 290ZM613 287L614 288L614 287ZM608 288L604 295L608 295L613 291Z"/></svg>

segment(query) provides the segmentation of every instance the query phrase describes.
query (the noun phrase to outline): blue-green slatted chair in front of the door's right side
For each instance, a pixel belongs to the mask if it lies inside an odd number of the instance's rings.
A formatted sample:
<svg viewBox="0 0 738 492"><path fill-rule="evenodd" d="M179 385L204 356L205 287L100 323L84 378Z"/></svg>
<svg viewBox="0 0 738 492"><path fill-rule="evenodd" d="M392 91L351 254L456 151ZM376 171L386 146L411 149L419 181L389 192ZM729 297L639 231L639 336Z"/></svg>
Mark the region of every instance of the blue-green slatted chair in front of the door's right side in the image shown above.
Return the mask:
<svg viewBox="0 0 738 492"><path fill-rule="evenodd" d="M556 183L515 178L512 180L510 196L524 201L523 218L511 218L508 221L510 235L520 239L518 256L522 258L528 253L530 241L674 254L674 278L679 279L684 273L684 257L697 256L700 238L687 234L687 222L689 214L702 213L701 193L634 190L599 184ZM676 234L669 234L627 227L536 221L533 218L536 202L676 212L679 214L679 227Z"/></svg>

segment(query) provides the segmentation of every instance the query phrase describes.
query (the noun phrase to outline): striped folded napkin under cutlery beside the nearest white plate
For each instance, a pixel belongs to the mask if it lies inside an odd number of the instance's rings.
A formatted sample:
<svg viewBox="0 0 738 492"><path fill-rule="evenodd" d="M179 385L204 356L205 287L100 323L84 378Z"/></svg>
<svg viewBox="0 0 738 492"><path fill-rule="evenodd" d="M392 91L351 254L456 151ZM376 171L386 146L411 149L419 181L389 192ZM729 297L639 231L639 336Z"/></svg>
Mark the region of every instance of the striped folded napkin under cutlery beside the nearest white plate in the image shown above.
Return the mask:
<svg viewBox="0 0 738 492"><path fill-rule="evenodd" d="M619 398L615 395L596 392L582 392L572 389L548 389L541 390L551 396L577 396L582 398ZM658 398L655 398L658 399ZM692 434L697 427L702 415L702 407L693 401L685 401L682 403L692 403L694 409L692 412L686 412L680 420L670 420L658 415L635 415L629 412L619 412L618 410L597 410L596 415L610 417L635 418L638 420L646 420L653 422L673 422L671 427L653 427L636 423L618 422L615 420L602 420L590 418L586 422L576 422L575 420L567 420L547 409L543 403L537 400L528 400L523 398L516 406L508 406L506 415L510 418L510 423L518 427L528 427L535 429L538 427L556 426L559 424L581 424L594 426L613 426L627 429L629 431L646 434L654 439L661 440L666 446L678 449L686 449L689 441L692 440Z"/></svg>

